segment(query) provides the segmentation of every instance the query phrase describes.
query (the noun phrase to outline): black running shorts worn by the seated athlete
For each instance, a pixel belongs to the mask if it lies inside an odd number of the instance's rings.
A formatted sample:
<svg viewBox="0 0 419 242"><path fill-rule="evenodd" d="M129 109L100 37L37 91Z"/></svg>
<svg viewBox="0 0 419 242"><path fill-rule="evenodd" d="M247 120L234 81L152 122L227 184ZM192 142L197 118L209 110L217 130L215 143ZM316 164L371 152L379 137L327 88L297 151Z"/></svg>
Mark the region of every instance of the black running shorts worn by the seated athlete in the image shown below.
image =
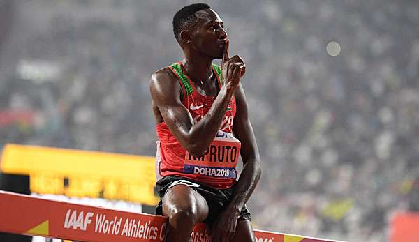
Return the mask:
<svg viewBox="0 0 419 242"><path fill-rule="evenodd" d="M163 198L168 189L179 184L191 187L207 200L210 211L208 217L205 218L203 222L210 228L212 228L212 224L218 218L221 211L227 206L234 191L234 186L228 189L216 189L180 176L164 176L156 182L156 190L157 193L159 193L160 198ZM156 207L156 215L163 215L161 200ZM250 212L247 210L246 205L244 205L242 211L240 211L239 219L251 220Z"/></svg>

